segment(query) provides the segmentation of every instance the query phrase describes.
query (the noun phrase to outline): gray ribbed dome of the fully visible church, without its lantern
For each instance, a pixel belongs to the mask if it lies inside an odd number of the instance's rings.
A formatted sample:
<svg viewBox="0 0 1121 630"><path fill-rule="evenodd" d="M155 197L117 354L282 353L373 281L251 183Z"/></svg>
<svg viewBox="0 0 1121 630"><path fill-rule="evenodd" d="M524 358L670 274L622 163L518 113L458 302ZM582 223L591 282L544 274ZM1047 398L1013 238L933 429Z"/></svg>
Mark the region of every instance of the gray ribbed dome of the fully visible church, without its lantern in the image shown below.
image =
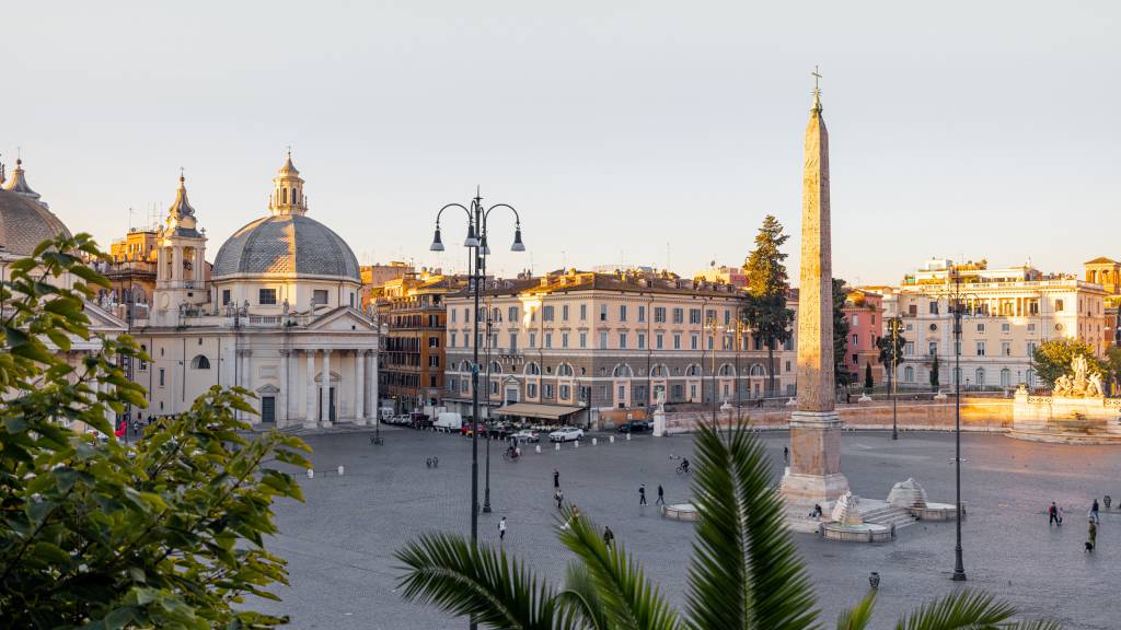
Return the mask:
<svg viewBox="0 0 1121 630"><path fill-rule="evenodd" d="M346 241L300 214L275 214L238 230L217 250L211 274L214 279L295 275L362 281Z"/></svg>

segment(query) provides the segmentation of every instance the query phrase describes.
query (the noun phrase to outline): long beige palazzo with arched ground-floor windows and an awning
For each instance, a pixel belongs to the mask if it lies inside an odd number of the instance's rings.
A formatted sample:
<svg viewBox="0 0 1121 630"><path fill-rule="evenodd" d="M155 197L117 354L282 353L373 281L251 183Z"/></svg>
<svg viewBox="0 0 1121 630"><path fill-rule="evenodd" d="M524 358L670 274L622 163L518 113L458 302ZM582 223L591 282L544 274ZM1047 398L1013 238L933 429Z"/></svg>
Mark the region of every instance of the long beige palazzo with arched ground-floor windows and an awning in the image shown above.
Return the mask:
<svg viewBox="0 0 1121 630"><path fill-rule="evenodd" d="M603 411L768 396L767 349L736 325L742 293L668 272L566 271L488 282L447 298L450 408L470 414L473 344L484 404L553 407L595 426ZM490 334L472 339L473 315ZM794 341L776 353L773 395L794 392ZM714 377L715 374L715 377ZM715 387L715 391L714 391Z"/></svg>

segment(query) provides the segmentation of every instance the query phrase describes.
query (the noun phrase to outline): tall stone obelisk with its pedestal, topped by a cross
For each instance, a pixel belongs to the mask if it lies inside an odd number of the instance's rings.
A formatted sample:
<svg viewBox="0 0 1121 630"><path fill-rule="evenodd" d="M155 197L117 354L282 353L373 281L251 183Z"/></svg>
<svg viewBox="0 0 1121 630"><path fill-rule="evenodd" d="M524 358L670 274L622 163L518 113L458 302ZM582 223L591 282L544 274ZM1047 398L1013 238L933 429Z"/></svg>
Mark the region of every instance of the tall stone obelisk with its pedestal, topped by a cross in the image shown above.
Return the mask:
<svg viewBox="0 0 1121 630"><path fill-rule="evenodd" d="M788 513L802 520L815 504L827 516L849 490L849 480L841 474L841 419L834 409L830 241L830 138L815 78L802 174L798 407L790 416L790 465L781 487Z"/></svg>

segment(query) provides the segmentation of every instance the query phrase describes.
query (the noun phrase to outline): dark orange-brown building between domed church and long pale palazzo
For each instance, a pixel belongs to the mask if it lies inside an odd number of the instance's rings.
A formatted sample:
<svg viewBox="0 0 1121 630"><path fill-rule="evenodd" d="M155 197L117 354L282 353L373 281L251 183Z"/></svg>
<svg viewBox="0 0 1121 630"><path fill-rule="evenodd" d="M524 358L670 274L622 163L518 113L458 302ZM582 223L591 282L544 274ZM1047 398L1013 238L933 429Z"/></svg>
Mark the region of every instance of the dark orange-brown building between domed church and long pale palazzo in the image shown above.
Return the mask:
<svg viewBox="0 0 1121 630"><path fill-rule="evenodd" d="M378 318L385 326L379 390L395 414L441 404L446 365L444 300L465 286L463 277L425 270L374 289Z"/></svg>

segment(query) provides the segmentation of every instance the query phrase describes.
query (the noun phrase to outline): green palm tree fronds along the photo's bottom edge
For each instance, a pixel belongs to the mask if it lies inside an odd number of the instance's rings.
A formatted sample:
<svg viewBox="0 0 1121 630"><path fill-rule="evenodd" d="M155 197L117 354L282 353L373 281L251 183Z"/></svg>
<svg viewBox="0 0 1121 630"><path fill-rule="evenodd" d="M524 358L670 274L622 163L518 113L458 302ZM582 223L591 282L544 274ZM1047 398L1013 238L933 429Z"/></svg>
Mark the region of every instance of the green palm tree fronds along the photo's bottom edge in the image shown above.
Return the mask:
<svg viewBox="0 0 1121 630"><path fill-rule="evenodd" d="M686 610L678 612L622 544L604 544L592 521L566 510L556 531L575 555L557 590L501 548L453 534L425 534L397 552L408 601L482 626L524 630L800 630L821 628L814 593L782 518L762 444L741 425L725 441L701 426ZM837 619L868 627L874 591ZM1017 622L991 595L961 590L899 620L897 630L1050 630Z"/></svg>

